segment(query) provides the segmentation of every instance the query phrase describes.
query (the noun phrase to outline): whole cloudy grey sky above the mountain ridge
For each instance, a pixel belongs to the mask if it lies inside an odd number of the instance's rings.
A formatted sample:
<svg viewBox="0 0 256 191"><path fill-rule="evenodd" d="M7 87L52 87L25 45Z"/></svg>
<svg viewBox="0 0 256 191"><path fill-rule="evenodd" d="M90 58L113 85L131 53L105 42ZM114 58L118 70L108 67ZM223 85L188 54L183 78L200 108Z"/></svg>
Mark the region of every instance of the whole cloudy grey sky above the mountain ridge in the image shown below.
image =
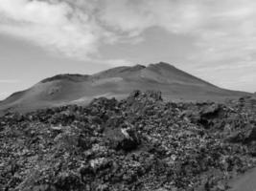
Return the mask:
<svg viewBox="0 0 256 191"><path fill-rule="evenodd" d="M0 0L0 99L55 74L160 61L256 92L256 1Z"/></svg>

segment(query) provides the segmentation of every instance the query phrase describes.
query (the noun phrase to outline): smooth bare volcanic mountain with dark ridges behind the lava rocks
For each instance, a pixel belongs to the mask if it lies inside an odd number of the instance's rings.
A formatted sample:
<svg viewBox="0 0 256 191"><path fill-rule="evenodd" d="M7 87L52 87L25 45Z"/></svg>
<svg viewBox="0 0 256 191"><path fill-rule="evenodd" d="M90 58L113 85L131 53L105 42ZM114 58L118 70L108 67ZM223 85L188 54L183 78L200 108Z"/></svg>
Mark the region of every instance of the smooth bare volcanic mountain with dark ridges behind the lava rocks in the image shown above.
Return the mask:
<svg viewBox="0 0 256 191"><path fill-rule="evenodd" d="M223 101L250 94L221 89L174 66L160 62L149 66L124 66L98 74L58 74L14 93L0 102L0 111L32 111L66 104L86 104L94 97L128 96L133 90L161 91L173 101Z"/></svg>

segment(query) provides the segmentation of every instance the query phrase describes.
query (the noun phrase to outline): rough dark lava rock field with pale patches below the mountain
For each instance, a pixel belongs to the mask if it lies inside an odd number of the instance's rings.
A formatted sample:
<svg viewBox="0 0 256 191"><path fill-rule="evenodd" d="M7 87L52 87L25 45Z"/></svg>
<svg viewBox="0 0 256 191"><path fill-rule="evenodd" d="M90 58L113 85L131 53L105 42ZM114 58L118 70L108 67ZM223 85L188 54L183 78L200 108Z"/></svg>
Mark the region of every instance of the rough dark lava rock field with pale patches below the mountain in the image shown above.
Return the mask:
<svg viewBox="0 0 256 191"><path fill-rule="evenodd" d="M0 190L226 190L256 164L256 100L156 92L0 118Z"/></svg>

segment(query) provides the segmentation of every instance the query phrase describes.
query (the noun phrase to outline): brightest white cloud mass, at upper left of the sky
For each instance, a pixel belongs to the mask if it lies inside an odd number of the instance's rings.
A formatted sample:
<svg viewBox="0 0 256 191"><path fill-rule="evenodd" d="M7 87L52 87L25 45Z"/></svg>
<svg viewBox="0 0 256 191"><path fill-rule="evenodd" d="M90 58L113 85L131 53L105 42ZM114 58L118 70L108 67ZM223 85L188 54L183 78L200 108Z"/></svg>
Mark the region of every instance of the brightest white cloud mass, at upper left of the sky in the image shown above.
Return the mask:
<svg viewBox="0 0 256 191"><path fill-rule="evenodd" d="M99 38L105 35L86 12L65 2L0 0L0 19L0 32L81 58L95 53Z"/></svg>

